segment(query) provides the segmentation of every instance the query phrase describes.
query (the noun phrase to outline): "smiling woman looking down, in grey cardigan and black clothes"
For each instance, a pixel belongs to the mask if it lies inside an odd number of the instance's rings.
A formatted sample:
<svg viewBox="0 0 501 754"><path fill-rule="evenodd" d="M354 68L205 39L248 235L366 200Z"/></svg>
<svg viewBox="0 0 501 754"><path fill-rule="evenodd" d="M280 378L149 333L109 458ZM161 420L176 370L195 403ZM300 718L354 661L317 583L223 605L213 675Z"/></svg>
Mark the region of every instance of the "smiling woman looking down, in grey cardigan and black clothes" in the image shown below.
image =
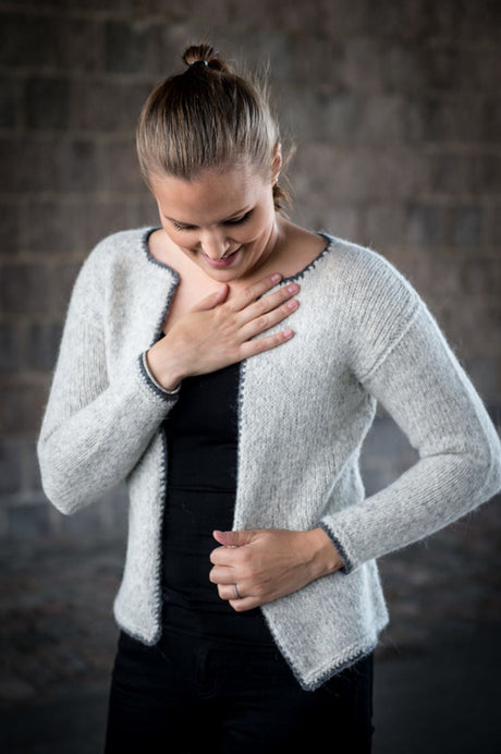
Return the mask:
<svg viewBox="0 0 501 754"><path fill-rule="evenodd" d="M38 446L64 513L129 483L107 752L369 752L375 559L496 494L499 439L407 281L281 214L265 95L184 61L137 131L161 228L84 264ZM366 498L377 400L420 458Z"/></svg>

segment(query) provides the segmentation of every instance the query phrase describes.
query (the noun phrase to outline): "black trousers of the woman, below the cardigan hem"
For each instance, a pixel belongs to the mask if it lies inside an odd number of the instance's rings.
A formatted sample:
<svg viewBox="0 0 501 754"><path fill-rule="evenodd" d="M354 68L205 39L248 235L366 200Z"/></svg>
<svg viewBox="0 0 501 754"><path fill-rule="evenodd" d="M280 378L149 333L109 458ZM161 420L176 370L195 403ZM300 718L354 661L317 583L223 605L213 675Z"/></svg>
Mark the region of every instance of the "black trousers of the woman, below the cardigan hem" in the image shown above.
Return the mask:
<svg viewBox="0 0 501 754"><path fill-rule="evenodd" d="M278 649L164 631L155 646L121 633L106 754L249 754L315 744L368 754L372 655L304 691Z"/></svg>

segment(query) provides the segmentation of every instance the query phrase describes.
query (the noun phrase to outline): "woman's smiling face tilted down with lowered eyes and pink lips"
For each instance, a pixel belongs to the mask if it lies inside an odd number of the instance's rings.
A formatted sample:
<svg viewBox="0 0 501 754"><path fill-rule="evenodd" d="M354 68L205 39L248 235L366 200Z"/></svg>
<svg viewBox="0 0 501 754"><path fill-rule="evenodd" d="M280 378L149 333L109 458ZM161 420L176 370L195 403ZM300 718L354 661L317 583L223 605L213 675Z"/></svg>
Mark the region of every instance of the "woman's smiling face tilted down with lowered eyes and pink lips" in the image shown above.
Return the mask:
<svg viewBox="0 0 501 754"><path fill-rule="evenodd" d="M209 278L247 278L272 254L280 218L271 177L239 166L191 181L154 177L150 184L167 235Z"/></svg>

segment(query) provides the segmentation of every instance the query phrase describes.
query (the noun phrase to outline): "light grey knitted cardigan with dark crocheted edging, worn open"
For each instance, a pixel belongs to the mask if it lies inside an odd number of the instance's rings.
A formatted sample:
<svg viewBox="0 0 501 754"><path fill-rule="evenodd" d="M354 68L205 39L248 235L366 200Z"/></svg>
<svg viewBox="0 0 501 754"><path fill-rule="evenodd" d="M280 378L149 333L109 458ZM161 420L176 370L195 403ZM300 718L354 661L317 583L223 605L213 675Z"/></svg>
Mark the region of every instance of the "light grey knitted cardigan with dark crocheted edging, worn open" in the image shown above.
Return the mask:
<svg viewBox="0 0 501 754"><path fill-rule="evenodd" d="M161 634L161 423L176 401L142 360L178 283L149 255L151 230L106 239L83 265L38 442L44 489L63 513L127 479L127 554L114 616L145 644ZM501 486L499 438L423 301L380 255L326 238L322 254L296 276L295 337L242 364L239 405L234 527L320 524L345 562L261 608L307 690L374 648L387 624L375 558L439 530ZM367 498L358 457L377 400L419 461Z"/></svg>

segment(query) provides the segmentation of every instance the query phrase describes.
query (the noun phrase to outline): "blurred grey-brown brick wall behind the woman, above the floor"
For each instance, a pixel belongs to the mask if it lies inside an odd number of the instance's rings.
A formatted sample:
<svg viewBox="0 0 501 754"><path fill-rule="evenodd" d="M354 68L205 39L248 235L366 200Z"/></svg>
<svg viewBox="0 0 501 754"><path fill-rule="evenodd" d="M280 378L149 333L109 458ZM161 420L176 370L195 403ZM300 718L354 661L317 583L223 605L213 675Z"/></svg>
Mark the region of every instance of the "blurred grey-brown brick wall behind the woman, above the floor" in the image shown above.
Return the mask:
<svg viewBox="0 0 501 754"><path fill-rule="evenodd" d="M496 416L500 36L496 0L0 0L0 539L123 535L120 491L74 520L47 506L35 439L78 265L103 235L156 222L140 105L200 37L269 59L297 146L293 217L396 264ZM381 416L369 489L411 461Z"/></svg>

